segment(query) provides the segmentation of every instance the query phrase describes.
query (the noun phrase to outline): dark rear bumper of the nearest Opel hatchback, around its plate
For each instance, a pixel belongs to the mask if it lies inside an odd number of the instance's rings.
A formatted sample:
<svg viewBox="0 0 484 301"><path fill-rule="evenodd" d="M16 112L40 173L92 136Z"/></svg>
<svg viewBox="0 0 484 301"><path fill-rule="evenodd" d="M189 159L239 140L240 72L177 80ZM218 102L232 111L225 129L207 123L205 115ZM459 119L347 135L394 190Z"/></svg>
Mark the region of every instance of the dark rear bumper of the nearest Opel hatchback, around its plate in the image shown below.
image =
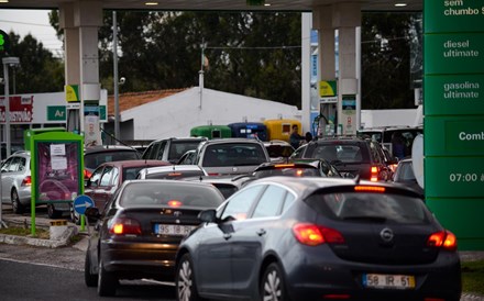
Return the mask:
<svg viewBox="0 0 484 301"><path fill-rule="evenodd" d="M318 248L315 248L318 249ZM459 300L461 274L459 255L441 253L425 265L375 265L352 263L332 252L311 252L299 260L283 260L288 292L293 300L318 300L348 297L350 300ZM295 257L297 258L297 257ZM408 275L414 289L372 289L363 285L364 274Z"/></svg>

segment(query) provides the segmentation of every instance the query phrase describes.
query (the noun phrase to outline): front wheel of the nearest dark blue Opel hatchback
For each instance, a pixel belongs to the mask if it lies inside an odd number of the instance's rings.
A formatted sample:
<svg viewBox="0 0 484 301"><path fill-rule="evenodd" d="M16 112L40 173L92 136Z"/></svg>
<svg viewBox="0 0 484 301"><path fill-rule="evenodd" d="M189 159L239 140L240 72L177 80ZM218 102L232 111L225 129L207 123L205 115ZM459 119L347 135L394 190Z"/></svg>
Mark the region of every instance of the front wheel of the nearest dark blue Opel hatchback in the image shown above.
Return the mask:
<svg viewBox="0 0 484 301"><path fill-rule="evenodd" d="M197 285L194 278L194 265L190 255L187 253L182 256L175 275L176 300L199 301L204 300L198 296Z"/></svg>

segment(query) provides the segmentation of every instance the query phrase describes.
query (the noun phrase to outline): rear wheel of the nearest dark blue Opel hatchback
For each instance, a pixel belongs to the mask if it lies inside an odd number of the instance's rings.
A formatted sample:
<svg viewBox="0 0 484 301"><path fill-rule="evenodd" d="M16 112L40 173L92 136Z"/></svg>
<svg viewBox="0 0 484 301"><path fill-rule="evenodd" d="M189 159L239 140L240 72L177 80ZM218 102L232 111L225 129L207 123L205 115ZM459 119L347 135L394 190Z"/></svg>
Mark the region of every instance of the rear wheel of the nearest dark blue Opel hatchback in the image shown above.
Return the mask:
<svg viewBox="0 0 484 301"><path fill-rule="evenodd" d="M286 294L286 286L284 283L280 267L273 263L267 266L261 280L261 300L278 301L289 300Z"/></svg>

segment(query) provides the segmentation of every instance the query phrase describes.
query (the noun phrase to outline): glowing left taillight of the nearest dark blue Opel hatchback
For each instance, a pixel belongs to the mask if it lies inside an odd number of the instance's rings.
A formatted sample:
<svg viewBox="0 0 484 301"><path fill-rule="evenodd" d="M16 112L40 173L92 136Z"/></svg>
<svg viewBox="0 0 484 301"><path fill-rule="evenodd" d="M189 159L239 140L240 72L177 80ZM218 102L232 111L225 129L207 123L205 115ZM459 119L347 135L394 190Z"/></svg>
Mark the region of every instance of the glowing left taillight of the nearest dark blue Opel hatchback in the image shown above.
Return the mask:
<svg viewBox="0 0 484 301"><path fill-rule="evenodd" d="M315 224L296 224L293 226L293 233L296 239L308 246L317 246L320 244L342 244L343 235L334 228L323 227Z"/></svg>

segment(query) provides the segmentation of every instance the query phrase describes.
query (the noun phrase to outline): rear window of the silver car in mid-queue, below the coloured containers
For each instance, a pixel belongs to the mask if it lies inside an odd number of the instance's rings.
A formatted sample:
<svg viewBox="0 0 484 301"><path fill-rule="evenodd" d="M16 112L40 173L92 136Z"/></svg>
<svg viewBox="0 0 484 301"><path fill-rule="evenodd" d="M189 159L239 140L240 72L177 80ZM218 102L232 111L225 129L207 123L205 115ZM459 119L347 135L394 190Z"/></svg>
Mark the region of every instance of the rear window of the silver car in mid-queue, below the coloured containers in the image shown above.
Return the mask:
<svg viewBox="0 0 484 301"><path fill-rule="evenodd" d="M210 145L206 149L204 167L250 166L267 161L263 146L255 143Z"/></svg>

